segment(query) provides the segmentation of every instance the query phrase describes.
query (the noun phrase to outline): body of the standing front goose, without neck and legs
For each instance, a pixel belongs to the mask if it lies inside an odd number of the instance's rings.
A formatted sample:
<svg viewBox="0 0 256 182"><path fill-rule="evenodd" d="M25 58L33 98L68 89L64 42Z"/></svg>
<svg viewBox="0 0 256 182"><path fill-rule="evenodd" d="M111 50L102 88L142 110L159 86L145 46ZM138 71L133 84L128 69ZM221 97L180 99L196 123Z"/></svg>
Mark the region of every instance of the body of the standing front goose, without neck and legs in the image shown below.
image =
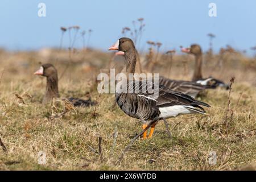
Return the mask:
<svg viewBox="0 0 256 182"><path fill-rule="evenodd" d="M152 82L138 82L139 90L142 90L146 85L154 88ZM135 90L137 87L129 87ZM203 106L209 106L204 102L196 101L192 97L181 92L175 92L159 85L159 96L156 97L150 93L116 93L115 98L119 107L130 117L140 119L147 123L154 119L167 119L176 117L180 114L201 113L204 114Z"/></svg>

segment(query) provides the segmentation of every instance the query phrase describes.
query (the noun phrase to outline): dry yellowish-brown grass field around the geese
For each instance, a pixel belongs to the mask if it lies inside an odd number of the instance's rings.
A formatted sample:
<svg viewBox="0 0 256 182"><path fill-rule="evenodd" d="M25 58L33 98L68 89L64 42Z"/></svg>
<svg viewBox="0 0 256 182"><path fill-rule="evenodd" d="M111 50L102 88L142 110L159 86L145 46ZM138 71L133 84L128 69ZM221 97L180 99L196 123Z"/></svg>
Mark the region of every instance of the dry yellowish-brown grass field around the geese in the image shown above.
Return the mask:
<svg viewBox="0 0 256 182"><path fill-rule="evenodd" d="M172 138L168 138L164 122L160 122L152 139L135 141L117 163L121 151L141 131L141 123L118 106L113 107L113 94L99 97L96 91L95 77L100 69L108 67L110 59L107 53L78 51L59 82L62 97L85 98L89 92L100 105L73 108L55 101L52 106L42 106L46 80L32 73L39 61L53 63L59 73L63 72L69 63L68 51L1 51L0 75L4 68L5 72L0 85L0 137L7 151L0 148L0 169L229 170L255 163L255 60L226 55L222 67L214 68L218 60L214 55L212 62L204 63L204 75L226 82L236 77L230 105L228 91L208 90L199 98L212 106L207 109L208 115L168 119ZM191 72L184 74L184 59L187 67L192 67L193 57L175 55L169 74L164 63L170 60L161 55L155 72L189 79ZM46 152L45 165L38 164L39 151ZM217 154L216 165L208 163L210 151Z"/></svg>

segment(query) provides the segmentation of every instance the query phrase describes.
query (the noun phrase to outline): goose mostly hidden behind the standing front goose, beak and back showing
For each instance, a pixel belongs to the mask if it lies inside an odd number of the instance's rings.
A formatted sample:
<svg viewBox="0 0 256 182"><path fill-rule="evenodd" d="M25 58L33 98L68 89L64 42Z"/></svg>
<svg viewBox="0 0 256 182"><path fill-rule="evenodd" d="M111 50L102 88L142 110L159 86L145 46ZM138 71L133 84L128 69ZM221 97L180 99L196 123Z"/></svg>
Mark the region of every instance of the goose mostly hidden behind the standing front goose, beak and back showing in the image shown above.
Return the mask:
<svg viewBox="0 0 256 182"><path fill-rule="evenodd" d="M124 56L125 53L122 51L118 51L115 55ZM163 76L159 76L159 84L164 85L171 90L182 92L184 94L188 94L189 96L196 98L196 96L205 89L213 89L214 85L202 85L196 83L194 81L184 81L184 80L172 80L170 78L166 78Z"/></svg>

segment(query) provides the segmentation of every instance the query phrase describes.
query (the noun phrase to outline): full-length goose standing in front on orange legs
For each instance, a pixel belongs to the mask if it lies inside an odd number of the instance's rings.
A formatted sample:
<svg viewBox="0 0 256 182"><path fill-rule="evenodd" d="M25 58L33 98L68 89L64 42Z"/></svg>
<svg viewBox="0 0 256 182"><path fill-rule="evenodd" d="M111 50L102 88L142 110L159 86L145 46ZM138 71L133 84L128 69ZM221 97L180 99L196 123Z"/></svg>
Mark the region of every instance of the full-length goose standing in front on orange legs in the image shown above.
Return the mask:
<svg viewBox="0 0 256 182"><path fill-rule="evenodd" d="M109 50L117 50L125 52L125 65L122 69L123 74L128 76L134 74L137 61L137 51L133 40L129 38L120 38L109 48ZM121 79L118 84L126 84L126 89L119 89L115 86L115 100L121 110L130 117L137 118L143 122L143 129L151 126L150 133L147 136L147 131L143 133L143 139L151 138L155 125L159 120L177 117L181 114L205 114L202 106L209 107L208 104L197 101L187 94L176 92L163 85L158 85L158 96L152 94L149 88L154 88L156 85L148 80L136 81L135 83L127 79ZM139 93L132 91L139 88ZM142 92L142 89L144 92ZM146 91L146 92L145 92Z"/></svg>

